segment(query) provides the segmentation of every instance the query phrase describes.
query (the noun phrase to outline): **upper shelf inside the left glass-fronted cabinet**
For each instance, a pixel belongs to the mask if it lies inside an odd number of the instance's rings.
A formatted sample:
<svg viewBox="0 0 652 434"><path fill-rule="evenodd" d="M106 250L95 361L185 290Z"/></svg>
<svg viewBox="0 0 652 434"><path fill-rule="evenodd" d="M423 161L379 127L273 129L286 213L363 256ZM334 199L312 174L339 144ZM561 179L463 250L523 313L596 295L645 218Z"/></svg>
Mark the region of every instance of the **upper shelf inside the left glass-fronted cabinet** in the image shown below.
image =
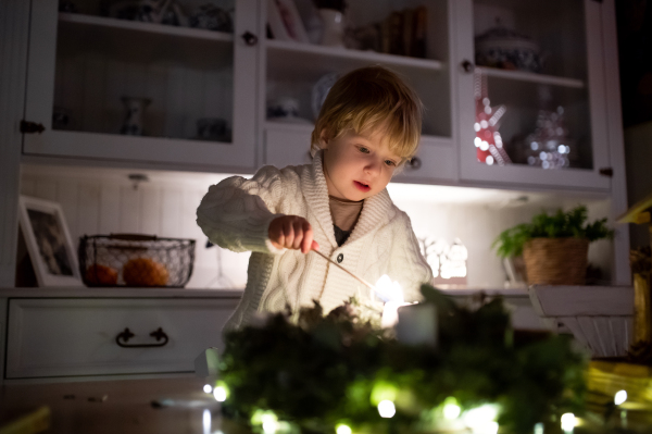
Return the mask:
<svg viewBox="0 0 652 434"><path fill-rule="evenodd" d="M162 36L174 36L175 38L205 39L220 42L233 44L234 35L223 32L212 32L200 28L176 27L155 23L142 23L138 21L126 21L108 18L103 16L83 15L76 13L60 13L60 23L71 23L84 26L95 26L113 32L115 29L134 30Z"/></svg>

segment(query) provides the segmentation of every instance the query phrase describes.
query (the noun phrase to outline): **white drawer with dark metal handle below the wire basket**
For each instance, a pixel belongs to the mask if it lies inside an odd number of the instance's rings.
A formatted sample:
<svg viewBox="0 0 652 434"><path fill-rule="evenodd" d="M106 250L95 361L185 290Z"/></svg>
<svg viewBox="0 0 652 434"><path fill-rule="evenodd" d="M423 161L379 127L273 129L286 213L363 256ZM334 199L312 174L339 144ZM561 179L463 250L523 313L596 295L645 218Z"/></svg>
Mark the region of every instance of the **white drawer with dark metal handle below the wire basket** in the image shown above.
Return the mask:
<svg viewBox="0 0 652 434"><path fill-rule="evenodd" d="M238 299L13 299L7 379L192 372ZM135 336L116 337L128 328ZM159 340L150 333L161 331ZM124 336L124 335L123 335ZM162 345L164 344L164 345ZM138 347L136 345L160 345Z"/></svg>

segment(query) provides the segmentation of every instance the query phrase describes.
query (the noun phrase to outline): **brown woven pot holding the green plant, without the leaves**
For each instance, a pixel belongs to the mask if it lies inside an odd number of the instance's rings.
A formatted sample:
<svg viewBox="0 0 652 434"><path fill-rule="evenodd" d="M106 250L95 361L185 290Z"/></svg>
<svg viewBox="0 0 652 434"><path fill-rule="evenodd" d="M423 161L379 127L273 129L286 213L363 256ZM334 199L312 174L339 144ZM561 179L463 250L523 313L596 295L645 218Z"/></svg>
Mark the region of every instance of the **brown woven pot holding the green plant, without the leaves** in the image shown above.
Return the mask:
<svg viewBox="0 0 652 434"><path fill-rule="evenodd" d="M532 238L523 248L529 285L584 285L589 240Z"/></svg>

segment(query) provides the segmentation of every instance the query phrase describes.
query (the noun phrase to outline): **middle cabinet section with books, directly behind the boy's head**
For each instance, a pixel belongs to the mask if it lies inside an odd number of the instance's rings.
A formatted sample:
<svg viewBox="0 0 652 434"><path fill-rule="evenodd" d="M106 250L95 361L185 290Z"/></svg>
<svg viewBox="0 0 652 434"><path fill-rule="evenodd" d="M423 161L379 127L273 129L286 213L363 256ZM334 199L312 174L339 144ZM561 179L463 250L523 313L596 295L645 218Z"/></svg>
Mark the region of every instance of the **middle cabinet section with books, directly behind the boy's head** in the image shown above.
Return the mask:
<svg viewBox="0 0 652 434"><path fill-rule="evenodd" d="M453 178L448 0L355 0L339 2L340 11L317 3L263 0L264 161L310 161L310 134L330 86L350 71L379 64L410 83L425 106L419 163L402 176Z"/></svg>

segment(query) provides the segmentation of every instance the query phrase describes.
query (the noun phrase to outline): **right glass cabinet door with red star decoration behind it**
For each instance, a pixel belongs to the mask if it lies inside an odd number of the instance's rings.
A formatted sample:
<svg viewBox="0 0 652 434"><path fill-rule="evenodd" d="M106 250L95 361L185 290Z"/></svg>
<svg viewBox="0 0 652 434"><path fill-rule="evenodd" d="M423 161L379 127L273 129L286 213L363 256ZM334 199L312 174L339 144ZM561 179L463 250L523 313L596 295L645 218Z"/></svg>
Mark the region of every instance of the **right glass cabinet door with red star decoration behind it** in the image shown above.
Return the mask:
<svg viewBox="0 0 652 434"><path fill-rule="evenodd" d="M453 3L461 177L609 189L600 3Z"/></svg>

